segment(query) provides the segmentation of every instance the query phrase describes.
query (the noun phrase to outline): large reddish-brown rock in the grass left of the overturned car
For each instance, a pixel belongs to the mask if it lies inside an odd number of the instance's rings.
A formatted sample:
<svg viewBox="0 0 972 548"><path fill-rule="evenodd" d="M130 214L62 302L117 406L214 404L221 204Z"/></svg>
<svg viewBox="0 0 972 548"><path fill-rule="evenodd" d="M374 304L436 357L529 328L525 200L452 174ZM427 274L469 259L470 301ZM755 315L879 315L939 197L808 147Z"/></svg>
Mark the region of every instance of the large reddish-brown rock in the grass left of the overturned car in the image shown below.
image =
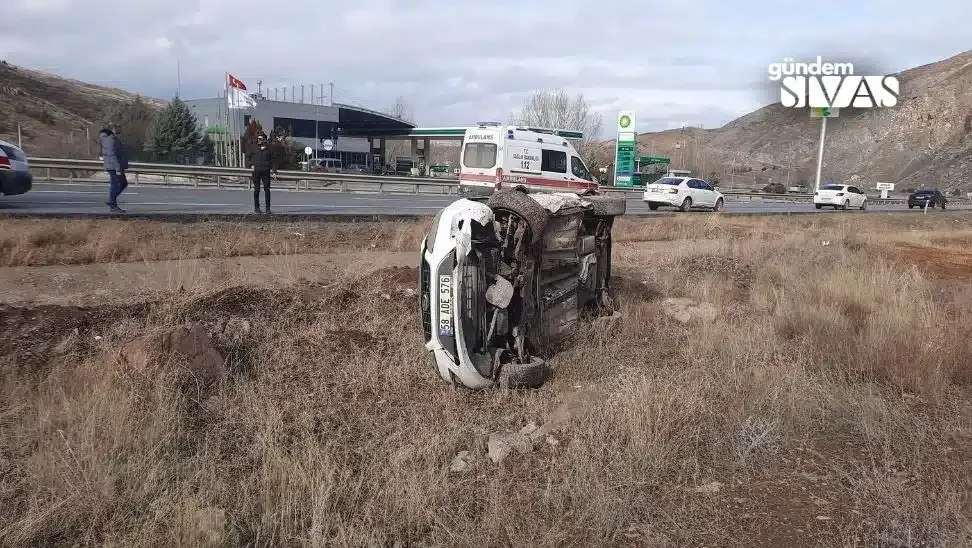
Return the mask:
<svg viewBox="0 0 972 548"><path fill-rule="evenodd" d="M119 351L119 359L143 374L176 364L185 367L202 384L220 378L225 365L201 324L179 326L129 341Z"/></svg>

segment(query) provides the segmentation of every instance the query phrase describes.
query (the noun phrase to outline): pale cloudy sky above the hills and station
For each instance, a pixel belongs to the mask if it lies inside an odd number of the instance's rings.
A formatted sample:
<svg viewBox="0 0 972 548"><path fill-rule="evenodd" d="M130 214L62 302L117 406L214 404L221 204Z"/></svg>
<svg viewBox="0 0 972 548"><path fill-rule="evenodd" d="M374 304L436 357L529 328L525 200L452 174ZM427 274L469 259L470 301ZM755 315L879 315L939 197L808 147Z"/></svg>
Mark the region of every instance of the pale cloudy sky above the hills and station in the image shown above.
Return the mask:
<svg viewBox="0 0 972 548"><path fill-rule="evenodd" d="M969 0L3 3L0 59L15 64L159 98L176 92L177 60L185 98L216 96L225 71L253 89L334 82L336 102L402 96L423 126L505 121L533 90L562 88L605 133L624 108L640 131L715 127L769 102L766 66L785 56L872 74L972 48Z"/></svg>

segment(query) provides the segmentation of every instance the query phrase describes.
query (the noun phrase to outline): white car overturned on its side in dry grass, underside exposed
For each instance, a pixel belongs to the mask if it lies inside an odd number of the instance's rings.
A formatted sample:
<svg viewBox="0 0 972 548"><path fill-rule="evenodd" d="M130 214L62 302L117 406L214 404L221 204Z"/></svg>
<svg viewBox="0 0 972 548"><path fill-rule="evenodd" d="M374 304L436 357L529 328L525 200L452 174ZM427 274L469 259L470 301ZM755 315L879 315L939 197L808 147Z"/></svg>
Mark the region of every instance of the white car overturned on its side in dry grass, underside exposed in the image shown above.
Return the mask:
<svg viewBox="0 0 972 548"><path fill-rule="evenodd" d="M625 201L502 190L440 211L422 241L425 347L442 379L536 387L586 311L612 311L611 228Z"/></svg>

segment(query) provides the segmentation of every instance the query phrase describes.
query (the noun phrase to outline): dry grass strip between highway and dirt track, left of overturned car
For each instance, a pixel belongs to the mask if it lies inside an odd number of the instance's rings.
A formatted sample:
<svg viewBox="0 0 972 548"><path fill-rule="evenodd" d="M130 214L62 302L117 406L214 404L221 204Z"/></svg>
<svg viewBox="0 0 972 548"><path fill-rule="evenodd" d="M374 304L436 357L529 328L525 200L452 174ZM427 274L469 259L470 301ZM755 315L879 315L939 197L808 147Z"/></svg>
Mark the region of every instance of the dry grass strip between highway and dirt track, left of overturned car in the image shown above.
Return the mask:
<svg viewBox="0 0 972 548"><path fill-rule="evenodd" d="M281 223L0 219L0 266L90 264L345 249L417 249L426 222Z"/></svg>

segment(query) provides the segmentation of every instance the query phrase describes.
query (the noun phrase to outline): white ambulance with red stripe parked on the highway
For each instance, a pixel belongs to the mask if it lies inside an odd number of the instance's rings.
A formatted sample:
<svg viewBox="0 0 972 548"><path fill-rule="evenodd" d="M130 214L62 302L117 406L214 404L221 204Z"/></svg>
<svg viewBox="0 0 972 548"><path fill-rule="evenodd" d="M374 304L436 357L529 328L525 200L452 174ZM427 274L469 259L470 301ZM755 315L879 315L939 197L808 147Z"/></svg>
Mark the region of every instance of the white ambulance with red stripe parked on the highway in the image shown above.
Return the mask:
<svg viewBox="0 0 972 548"><path fill-rule="evenodd" d="M459 192L490 195L501 188L596 192L597 183L567 139L577 131L502 126L483 122L466 130L459 165Z"/></svg>

